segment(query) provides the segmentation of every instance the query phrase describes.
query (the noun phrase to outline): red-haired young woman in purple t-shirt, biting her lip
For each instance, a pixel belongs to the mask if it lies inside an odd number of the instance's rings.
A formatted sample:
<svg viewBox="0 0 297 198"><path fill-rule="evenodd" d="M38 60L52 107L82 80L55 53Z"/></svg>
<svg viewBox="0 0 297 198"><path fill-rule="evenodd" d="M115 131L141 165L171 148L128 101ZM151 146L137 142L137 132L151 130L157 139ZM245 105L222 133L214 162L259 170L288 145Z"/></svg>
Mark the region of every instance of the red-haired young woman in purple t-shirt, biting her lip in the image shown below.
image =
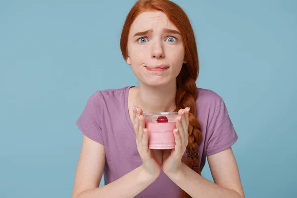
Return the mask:
<svg viewBox="0 0 297 198"><path fill-rule="evenodd" d="M169 0L139 0L121 35L139 87L98 91L77 121L83 132L73 198L244 198L223 99L197 88L190 21ZM178 112L173 149L148 149L145 112ZM207 156L214 183L200 172ZM105 185L99 187L104 172Z"/></svg>

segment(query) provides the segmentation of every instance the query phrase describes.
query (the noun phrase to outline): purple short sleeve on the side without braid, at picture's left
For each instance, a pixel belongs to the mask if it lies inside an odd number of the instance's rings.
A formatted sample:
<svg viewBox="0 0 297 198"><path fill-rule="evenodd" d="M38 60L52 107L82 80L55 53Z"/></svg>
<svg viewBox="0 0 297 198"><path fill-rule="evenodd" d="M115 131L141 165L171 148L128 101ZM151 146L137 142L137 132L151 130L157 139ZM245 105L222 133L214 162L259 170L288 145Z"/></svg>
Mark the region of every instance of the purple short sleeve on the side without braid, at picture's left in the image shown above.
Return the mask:
<svg viewBox="0 0 297 198"><path fill-rule="evenodd" d="M88 99L76 125L87 137L104 145L100 112L100 93L96 92Z"/></svg>

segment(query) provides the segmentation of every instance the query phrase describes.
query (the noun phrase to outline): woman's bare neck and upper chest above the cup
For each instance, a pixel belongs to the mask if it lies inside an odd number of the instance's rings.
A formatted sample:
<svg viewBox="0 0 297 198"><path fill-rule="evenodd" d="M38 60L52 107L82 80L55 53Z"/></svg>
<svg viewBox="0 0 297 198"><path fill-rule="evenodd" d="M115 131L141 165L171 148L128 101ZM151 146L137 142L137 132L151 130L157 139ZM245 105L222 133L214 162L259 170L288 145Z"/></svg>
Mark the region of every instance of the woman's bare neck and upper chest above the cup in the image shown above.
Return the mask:
<svg viewBox="0 0 297 198"><path fill-rule="evenodd" d="M140 82L136 91L136 103L143 112L172 112L175 105L176 83L150 87Z"/></svg>

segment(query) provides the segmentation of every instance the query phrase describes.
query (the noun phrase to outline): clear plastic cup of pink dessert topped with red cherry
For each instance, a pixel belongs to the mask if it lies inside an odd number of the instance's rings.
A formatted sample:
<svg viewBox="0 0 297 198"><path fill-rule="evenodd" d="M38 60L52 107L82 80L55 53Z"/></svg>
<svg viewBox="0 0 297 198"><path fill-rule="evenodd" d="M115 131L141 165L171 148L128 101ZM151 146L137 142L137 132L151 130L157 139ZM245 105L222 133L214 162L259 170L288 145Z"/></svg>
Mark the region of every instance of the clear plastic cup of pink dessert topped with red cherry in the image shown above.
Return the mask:
<svg viewBox="0 0 297 198"><path fill-rule="evenodd" d="M176 128L177 112L143 113L148 129L149 149L172 149L175 147L173 130Z"/></svg>

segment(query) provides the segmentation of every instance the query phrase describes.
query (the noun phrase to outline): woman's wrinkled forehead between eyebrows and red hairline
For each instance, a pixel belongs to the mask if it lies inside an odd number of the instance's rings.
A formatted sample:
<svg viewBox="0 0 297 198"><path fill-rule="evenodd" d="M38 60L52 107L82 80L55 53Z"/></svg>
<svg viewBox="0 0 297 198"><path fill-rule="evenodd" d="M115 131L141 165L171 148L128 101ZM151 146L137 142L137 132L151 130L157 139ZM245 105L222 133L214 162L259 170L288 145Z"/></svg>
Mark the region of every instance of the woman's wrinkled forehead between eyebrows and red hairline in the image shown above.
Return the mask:
<svg viewBox="0 0 297 198"><path fill-rule="evenodd" d="M145 11L140 13L131 25L131 33L146 31L148 29L168 28L178 30L170 22L166 14L162 11Z"/></svg>

